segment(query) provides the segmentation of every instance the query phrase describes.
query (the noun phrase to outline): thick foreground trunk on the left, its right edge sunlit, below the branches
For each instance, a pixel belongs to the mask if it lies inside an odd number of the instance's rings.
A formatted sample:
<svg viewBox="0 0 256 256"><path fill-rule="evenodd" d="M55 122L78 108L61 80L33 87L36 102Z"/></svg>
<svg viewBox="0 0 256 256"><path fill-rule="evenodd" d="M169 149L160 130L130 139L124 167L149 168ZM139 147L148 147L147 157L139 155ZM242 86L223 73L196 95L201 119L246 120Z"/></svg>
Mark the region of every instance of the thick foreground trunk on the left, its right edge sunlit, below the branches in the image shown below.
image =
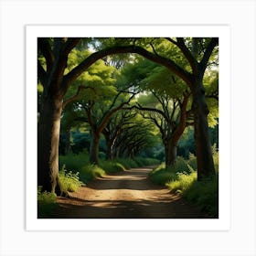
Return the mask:
<svg viewBox="0 0 256 256"><path fill-rule="evenodd" d="M59 190L59 128L62 101L44 97L37 133L37 185L42 191ZM59 191L57 191L59 192Z"/></svg>

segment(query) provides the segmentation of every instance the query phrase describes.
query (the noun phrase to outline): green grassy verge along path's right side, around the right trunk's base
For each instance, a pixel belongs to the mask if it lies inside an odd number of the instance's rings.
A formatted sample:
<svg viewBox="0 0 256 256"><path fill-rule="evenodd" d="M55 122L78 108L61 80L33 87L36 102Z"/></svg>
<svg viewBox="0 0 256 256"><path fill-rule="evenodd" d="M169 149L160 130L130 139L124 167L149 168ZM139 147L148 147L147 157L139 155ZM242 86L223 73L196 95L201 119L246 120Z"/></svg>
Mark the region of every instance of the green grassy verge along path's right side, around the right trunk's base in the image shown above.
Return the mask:
<svg viewBox="0 0 256 256"><path fill-rule="evenodd" d="M188 202L197 205L211 218L219 216L219 153L213 147L213 160L216 176L197 181L197 161L194 155L188 160L177 158L176 164L165 168L165 164L156 167L150 179L164 185L173 193L179 194Z"/></svg>

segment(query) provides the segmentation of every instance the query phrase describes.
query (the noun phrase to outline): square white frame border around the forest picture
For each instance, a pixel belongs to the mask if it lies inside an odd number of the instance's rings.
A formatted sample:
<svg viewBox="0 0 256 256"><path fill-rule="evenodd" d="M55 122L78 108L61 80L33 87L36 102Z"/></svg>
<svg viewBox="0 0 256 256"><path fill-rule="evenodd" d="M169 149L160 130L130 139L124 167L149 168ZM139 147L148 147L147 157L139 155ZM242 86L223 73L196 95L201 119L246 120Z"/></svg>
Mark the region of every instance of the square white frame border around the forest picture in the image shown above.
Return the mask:
<svg viewBox="0 0 256 256"><path fill-rule="evenodd" d="M230 87L227 26L27 26L27 230L228 230ZM86 31L86 33L81 32ZM111 33L110 33L111 31ZM37 219L37 37L219 37L219 219ZM225 170L225 171L224 171ZM113 228L114 227L114 228Z"/></svg>

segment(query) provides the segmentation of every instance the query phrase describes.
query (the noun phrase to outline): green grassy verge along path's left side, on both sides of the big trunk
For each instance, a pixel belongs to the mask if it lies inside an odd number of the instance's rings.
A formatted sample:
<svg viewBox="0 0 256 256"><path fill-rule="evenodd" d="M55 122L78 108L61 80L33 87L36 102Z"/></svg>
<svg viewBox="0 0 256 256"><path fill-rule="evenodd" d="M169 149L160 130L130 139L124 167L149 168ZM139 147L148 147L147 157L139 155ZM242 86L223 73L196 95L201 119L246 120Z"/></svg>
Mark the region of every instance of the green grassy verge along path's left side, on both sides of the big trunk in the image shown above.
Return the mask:
<svg viewBox="0 0 256 256"><path fill-rule="evenodd" d="M85 153L79 155L59 155L59 184L62 193L74 192L84 184L88 184L97 177L106 174L122 172L143 165L157 165L157 160L151 158L126 158L110 160L100 160L99 165L91 165L89 156ZM37 189L37 217L47 218L52 212L59 208L56 194L42 192L41 187Z"/></svg>

